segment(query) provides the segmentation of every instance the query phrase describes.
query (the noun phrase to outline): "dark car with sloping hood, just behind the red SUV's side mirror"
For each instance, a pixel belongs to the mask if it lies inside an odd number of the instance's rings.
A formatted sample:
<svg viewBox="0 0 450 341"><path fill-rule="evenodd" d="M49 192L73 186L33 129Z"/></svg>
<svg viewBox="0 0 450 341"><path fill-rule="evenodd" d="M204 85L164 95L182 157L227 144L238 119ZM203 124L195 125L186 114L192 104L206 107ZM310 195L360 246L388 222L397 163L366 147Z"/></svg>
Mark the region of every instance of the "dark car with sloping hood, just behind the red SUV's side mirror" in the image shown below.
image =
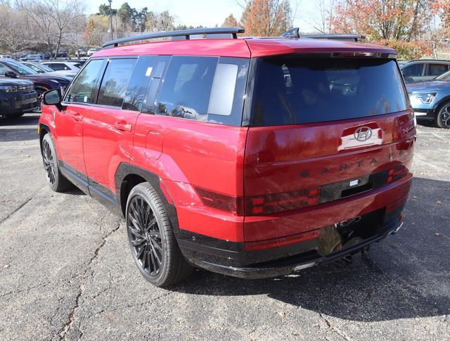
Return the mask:
<svg viewBox="0 0 450 341"><path fill-rule="evenodd" d="M18 61L6 58L0 59L0 77L27 79L33 82L37 92L38 107L40 107L41 96L45 91L59 89L61 93L64 93L71 81L70 77L41 74Z"/></svg>

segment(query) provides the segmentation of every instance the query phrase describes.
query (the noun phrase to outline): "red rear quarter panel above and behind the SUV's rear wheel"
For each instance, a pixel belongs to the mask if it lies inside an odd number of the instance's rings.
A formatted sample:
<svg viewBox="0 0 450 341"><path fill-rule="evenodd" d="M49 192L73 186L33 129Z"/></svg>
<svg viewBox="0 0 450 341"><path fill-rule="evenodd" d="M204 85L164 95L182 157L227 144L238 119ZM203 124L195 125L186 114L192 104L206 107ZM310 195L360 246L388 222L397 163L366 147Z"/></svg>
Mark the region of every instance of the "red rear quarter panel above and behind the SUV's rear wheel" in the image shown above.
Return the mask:
<svg viewBox="0 0 450 341"><path fill-rule="evenodd" d="M243 217L203 205L194 186L243 195L247 130L141 114L131 163L160 176L176 206L181 229L243 241Z"/></svg>

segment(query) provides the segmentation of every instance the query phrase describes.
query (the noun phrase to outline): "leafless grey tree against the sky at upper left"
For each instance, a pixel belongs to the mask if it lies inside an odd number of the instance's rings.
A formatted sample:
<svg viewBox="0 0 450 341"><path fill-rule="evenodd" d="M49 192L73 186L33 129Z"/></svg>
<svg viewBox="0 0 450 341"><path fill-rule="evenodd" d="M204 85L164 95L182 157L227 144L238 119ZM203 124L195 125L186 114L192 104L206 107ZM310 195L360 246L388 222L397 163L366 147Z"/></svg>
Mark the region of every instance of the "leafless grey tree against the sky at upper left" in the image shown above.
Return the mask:
<svg viewBox="0 0 450 341"><path fill-rule="evenodd" d="M17 6L27 18L37 41L58 55L61 42L84 17L83 0L18 0Z"/></svg>

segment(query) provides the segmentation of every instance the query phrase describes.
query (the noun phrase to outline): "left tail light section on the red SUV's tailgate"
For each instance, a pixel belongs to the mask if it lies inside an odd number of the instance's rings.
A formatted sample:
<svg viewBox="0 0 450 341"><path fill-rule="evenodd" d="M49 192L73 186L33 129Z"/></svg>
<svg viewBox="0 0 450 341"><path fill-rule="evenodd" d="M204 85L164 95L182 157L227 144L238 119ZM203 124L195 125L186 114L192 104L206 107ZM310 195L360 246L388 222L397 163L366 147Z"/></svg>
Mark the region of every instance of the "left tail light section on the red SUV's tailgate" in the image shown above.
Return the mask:
<svg viewBox="0 0 450 341"><path fill-rule="evenodd" d="M269 214L317 205L320 192L320 187L313 187L290 192L246 197L245 214Z"/></svg>

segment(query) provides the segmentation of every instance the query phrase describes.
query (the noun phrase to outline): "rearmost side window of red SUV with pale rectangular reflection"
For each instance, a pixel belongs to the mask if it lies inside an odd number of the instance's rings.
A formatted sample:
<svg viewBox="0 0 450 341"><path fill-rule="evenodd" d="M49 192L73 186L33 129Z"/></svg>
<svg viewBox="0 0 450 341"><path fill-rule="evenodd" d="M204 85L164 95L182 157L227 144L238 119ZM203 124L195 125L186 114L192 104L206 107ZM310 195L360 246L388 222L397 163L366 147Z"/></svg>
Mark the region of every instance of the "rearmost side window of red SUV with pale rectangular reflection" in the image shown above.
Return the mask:
<svg viewBox="0 0 450 341"><path fill-rule="evenodd" d="M248 58L172 57L155 112L240 126L249 63Z"/></svg>

